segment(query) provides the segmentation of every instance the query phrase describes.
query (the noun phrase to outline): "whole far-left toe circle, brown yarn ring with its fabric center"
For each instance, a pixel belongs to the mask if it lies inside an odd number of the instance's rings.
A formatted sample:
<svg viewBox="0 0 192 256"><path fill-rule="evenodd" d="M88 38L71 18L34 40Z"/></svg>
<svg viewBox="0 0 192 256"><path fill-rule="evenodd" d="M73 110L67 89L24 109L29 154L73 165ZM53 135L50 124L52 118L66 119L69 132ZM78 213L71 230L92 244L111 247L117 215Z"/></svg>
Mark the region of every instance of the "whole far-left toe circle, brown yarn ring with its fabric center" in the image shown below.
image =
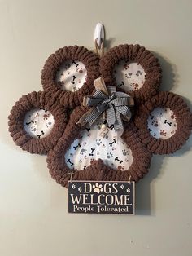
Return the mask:
<svg viewBox="0 0 192 256"><path fill-rule="evenodd" d="M8 118L16 145L36 154L45 154L54 148L68 123L67 109L48 91L23 95Z"/></svg>

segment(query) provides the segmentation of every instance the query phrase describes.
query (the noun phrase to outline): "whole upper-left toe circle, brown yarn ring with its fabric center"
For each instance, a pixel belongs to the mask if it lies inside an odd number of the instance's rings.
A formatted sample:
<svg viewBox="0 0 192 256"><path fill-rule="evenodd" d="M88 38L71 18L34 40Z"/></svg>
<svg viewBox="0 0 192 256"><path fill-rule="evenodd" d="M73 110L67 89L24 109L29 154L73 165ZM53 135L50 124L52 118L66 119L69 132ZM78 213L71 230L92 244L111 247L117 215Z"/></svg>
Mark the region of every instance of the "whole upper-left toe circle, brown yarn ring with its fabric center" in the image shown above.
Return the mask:
<svg viewBox="0 0 192 256"><path fill-rule="evenodd" d="M60 48L46 60L41 72L44 90L53 90L64 107L75 108L94 90L99 77L98 55L83 46Z"/></svg>

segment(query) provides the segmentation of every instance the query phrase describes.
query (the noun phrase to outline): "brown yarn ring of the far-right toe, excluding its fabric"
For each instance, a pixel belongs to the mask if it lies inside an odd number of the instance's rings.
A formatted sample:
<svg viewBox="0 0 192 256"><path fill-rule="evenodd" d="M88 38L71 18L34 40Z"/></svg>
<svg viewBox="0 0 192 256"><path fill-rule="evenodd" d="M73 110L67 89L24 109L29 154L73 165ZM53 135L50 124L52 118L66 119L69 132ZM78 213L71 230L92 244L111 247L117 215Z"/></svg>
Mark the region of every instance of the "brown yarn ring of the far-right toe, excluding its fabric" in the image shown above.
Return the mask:
<svg viewBox="0 0 192 256"><path fill-rule="evenodd" d="M168 139L156 139L147 128L149 114L158 107L170 108L176 115L177 130ZM146 148L154 154L170 154L181 148L189 138L192 129L192 114L181 96L161 91L138 108L134 123L138 128L137 134Z"/></svg>

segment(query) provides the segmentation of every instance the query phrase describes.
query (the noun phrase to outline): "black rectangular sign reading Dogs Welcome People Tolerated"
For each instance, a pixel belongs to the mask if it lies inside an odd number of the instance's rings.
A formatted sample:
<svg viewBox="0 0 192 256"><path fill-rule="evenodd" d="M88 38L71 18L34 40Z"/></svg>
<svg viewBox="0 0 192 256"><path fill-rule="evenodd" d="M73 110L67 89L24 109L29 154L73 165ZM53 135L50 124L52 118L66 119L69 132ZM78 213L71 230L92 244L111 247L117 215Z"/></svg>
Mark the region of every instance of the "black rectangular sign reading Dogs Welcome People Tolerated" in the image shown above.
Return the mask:
<svg viewBox="0 0 192 256"><path fill-rule="evenodd" d="M68 181L68 212L72 214L134 214L135 183Z"/></svg>

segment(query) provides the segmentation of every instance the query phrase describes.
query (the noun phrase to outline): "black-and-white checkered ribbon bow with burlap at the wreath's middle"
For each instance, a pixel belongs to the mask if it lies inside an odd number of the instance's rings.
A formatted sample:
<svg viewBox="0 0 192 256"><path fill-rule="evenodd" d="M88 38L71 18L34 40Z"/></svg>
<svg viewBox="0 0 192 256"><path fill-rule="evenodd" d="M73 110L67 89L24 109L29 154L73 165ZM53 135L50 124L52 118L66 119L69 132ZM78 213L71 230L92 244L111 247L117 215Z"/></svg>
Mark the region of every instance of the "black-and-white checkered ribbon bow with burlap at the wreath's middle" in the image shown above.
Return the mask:
<svg viewBox="0 0 192 256"><path fill-rule="evenodd" d="M130 95L124 92L116 91L116 86L106 87L103 78L99 77L94 81L95 93L91 96L84 97L83 104L92 107L85 113L78 123L84 126L86 123L93 125L94 121L106 113L107 124L109 127L114 126L115 130L124 130L123 121L129 121L134 102Z"/></svg>

